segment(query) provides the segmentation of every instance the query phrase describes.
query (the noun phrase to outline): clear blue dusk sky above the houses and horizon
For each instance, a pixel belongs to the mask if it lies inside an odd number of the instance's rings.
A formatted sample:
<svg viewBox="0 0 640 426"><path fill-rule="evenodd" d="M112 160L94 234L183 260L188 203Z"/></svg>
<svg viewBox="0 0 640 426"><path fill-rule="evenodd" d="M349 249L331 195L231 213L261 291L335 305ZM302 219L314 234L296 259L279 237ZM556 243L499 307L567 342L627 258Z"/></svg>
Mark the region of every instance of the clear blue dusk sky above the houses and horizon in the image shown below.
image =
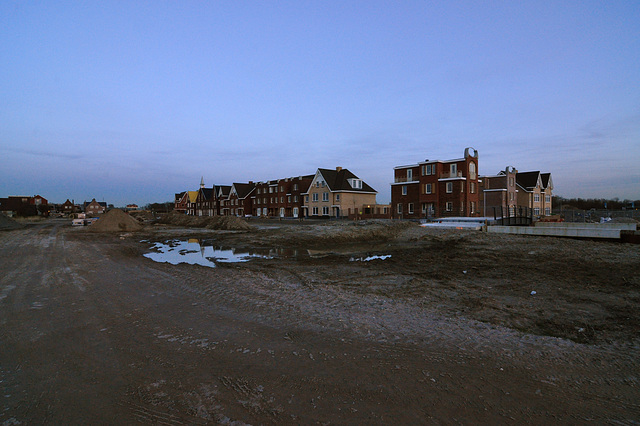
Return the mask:
<svg viewBox="0 0 640 426"><path fill-rule="evenodd" d="M115 205L474 147L640 198L638 1L0 2L0 197Z"/></svg>

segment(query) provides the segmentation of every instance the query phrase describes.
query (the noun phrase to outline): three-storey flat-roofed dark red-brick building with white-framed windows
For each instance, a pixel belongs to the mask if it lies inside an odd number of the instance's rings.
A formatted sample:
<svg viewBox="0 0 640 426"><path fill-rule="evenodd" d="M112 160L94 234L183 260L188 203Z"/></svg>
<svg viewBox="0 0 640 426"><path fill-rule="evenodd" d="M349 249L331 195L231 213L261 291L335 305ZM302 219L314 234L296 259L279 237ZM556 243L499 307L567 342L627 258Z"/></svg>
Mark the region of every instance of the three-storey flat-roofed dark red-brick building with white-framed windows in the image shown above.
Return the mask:
<svg viewBox="0 0 640 426"><path fill-rule="evenodd" d="M453 160L425 160L394 168L392 216L398 219L480 216L478 151Z"/></svg>

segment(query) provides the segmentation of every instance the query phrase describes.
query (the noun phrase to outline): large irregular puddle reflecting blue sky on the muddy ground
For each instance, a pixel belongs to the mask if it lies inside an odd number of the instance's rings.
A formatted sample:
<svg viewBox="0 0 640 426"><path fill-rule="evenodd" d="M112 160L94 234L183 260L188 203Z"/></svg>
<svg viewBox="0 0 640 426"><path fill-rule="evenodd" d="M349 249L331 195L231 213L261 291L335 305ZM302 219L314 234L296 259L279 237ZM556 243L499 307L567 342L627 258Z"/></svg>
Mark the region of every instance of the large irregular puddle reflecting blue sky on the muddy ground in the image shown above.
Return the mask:
<svg viewBox="0 0 640 426"><path fill-rule="evenodd" d="M276 257L297 257L296 249L238 249L216 246L213 240L171 240L155 243L151 253L144 256L156 262L168 262L172 265L188 263L215 267L216 263L247 262L251 259L273 259Z"/></svg>

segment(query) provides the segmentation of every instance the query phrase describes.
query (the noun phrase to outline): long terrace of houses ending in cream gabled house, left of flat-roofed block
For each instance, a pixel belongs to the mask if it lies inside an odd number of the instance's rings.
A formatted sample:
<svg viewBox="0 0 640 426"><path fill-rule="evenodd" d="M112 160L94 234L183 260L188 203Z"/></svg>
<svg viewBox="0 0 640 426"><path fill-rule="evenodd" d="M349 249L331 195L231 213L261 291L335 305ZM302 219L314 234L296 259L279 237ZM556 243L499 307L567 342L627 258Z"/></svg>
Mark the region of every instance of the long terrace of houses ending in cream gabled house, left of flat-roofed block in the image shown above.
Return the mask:
<svg viewBox="0 0 640 426"><path fill-rule="evenodd" d="M389 217L389 205L376 204L377 191L348 169L262 182L213 185L204 178L198 191L175 194L174 210L194 216Z"/></svg>

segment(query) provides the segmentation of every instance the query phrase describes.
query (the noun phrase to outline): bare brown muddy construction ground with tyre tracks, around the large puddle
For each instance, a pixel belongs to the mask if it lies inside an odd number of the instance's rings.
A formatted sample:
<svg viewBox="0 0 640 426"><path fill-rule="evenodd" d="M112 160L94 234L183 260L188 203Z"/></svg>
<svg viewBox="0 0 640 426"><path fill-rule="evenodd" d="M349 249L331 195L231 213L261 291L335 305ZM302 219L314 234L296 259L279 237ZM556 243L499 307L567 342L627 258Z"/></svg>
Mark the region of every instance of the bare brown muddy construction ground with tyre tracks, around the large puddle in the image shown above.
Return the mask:
<svg viewBox="0 0 640 426"><path fill-rule="evenodd" d="M640 422L639 245L250 223L1 231L0 423Z"/></svg>

